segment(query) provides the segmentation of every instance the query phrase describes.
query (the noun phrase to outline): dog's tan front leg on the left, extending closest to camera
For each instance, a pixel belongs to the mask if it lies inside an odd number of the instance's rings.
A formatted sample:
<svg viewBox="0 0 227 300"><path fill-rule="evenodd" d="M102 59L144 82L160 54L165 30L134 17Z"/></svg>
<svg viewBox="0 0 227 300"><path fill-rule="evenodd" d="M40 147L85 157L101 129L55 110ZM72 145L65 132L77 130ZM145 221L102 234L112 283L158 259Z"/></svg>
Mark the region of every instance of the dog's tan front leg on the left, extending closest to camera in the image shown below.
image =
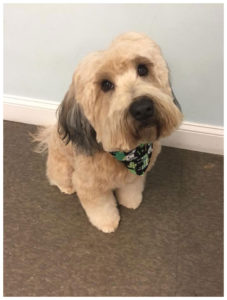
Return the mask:
<svg viewBox="0 0 227 300"><path fill-rule="evenodd" d="M92 190L77 190L77 194L90 222L103 232L114 232L120 215L112 191L95 195Z"/></svg>

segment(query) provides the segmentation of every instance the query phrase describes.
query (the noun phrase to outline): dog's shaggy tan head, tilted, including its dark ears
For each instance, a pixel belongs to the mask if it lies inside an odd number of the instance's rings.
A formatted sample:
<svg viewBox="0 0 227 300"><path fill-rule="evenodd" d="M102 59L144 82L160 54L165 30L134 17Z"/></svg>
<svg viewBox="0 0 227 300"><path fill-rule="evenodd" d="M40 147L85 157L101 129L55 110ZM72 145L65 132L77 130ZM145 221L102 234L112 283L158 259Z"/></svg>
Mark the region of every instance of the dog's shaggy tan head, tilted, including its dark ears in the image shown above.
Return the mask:
<svg viewBox="0 0 227 300"><path fill-rule="evenodd" d="M87 154L129 151L176 129L181 111L159 47L127 33L78 66L59 109L59 132Z"/></svg>

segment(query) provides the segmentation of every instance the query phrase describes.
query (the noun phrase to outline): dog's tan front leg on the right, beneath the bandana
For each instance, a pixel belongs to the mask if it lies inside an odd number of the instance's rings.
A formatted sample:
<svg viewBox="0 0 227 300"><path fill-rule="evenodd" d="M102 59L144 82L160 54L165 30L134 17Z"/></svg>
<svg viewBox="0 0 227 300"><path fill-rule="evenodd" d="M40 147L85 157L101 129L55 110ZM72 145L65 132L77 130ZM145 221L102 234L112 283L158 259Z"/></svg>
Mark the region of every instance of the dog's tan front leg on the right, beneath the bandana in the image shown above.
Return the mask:
<svg viewBox="0 0 227 300"><path fill-rule="evenodd" d="M116 196L119 204L132 209L139 207L143 199L145 179L146 175L137 176L132 183L117 189Z"/></svg>

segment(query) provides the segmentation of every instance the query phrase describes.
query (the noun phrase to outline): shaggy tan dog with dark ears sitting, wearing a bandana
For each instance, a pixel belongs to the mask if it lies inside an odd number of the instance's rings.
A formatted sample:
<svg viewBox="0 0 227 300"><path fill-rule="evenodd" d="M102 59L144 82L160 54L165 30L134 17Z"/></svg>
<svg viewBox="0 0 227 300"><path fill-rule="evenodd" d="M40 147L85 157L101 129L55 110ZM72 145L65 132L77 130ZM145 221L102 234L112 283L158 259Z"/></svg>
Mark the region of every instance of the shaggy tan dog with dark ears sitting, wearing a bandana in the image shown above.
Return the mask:
<svg viewBox="0 0 227 300"><path fill-rule="evenodd" d="M51 185L77 193L91 224L114 232L117 202L136 209L160 138L183 115L159 46L129 32L78 65L57 110L57 123L39 128L37 152L47 151Z"/></svg>

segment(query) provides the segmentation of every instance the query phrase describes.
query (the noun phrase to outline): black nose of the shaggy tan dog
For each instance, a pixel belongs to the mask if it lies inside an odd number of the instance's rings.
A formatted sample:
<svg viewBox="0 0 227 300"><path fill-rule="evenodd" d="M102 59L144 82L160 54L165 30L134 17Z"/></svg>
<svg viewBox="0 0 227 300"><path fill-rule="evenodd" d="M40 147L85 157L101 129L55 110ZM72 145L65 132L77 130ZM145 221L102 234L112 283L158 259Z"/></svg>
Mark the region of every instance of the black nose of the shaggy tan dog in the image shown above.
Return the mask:
<svg viewBox="0 0 227 300"><path fill-rule="evenodd" d="M138 97L130 105L129 112L137 121L146 121L153 117L154 103L152 99L147 96Z"/></svg>

